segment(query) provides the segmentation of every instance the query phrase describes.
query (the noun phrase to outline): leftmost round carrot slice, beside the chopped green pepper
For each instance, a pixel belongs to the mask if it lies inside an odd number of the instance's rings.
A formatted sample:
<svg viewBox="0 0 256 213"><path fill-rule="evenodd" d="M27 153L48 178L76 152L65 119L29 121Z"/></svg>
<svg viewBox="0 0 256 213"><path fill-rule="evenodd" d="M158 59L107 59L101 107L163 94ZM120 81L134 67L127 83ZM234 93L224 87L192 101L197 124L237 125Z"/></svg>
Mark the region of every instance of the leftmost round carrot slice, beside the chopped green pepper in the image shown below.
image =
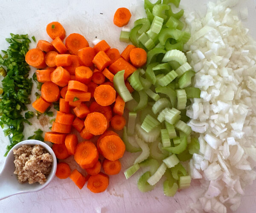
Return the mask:
<svg viewBox="0 0 256 213"><path fill-rule="evenodd" d="M39 48L29 49L26 53L25 60L30 66L37 69L44 69L46 67L44 56L44 52Z"/></svg>

